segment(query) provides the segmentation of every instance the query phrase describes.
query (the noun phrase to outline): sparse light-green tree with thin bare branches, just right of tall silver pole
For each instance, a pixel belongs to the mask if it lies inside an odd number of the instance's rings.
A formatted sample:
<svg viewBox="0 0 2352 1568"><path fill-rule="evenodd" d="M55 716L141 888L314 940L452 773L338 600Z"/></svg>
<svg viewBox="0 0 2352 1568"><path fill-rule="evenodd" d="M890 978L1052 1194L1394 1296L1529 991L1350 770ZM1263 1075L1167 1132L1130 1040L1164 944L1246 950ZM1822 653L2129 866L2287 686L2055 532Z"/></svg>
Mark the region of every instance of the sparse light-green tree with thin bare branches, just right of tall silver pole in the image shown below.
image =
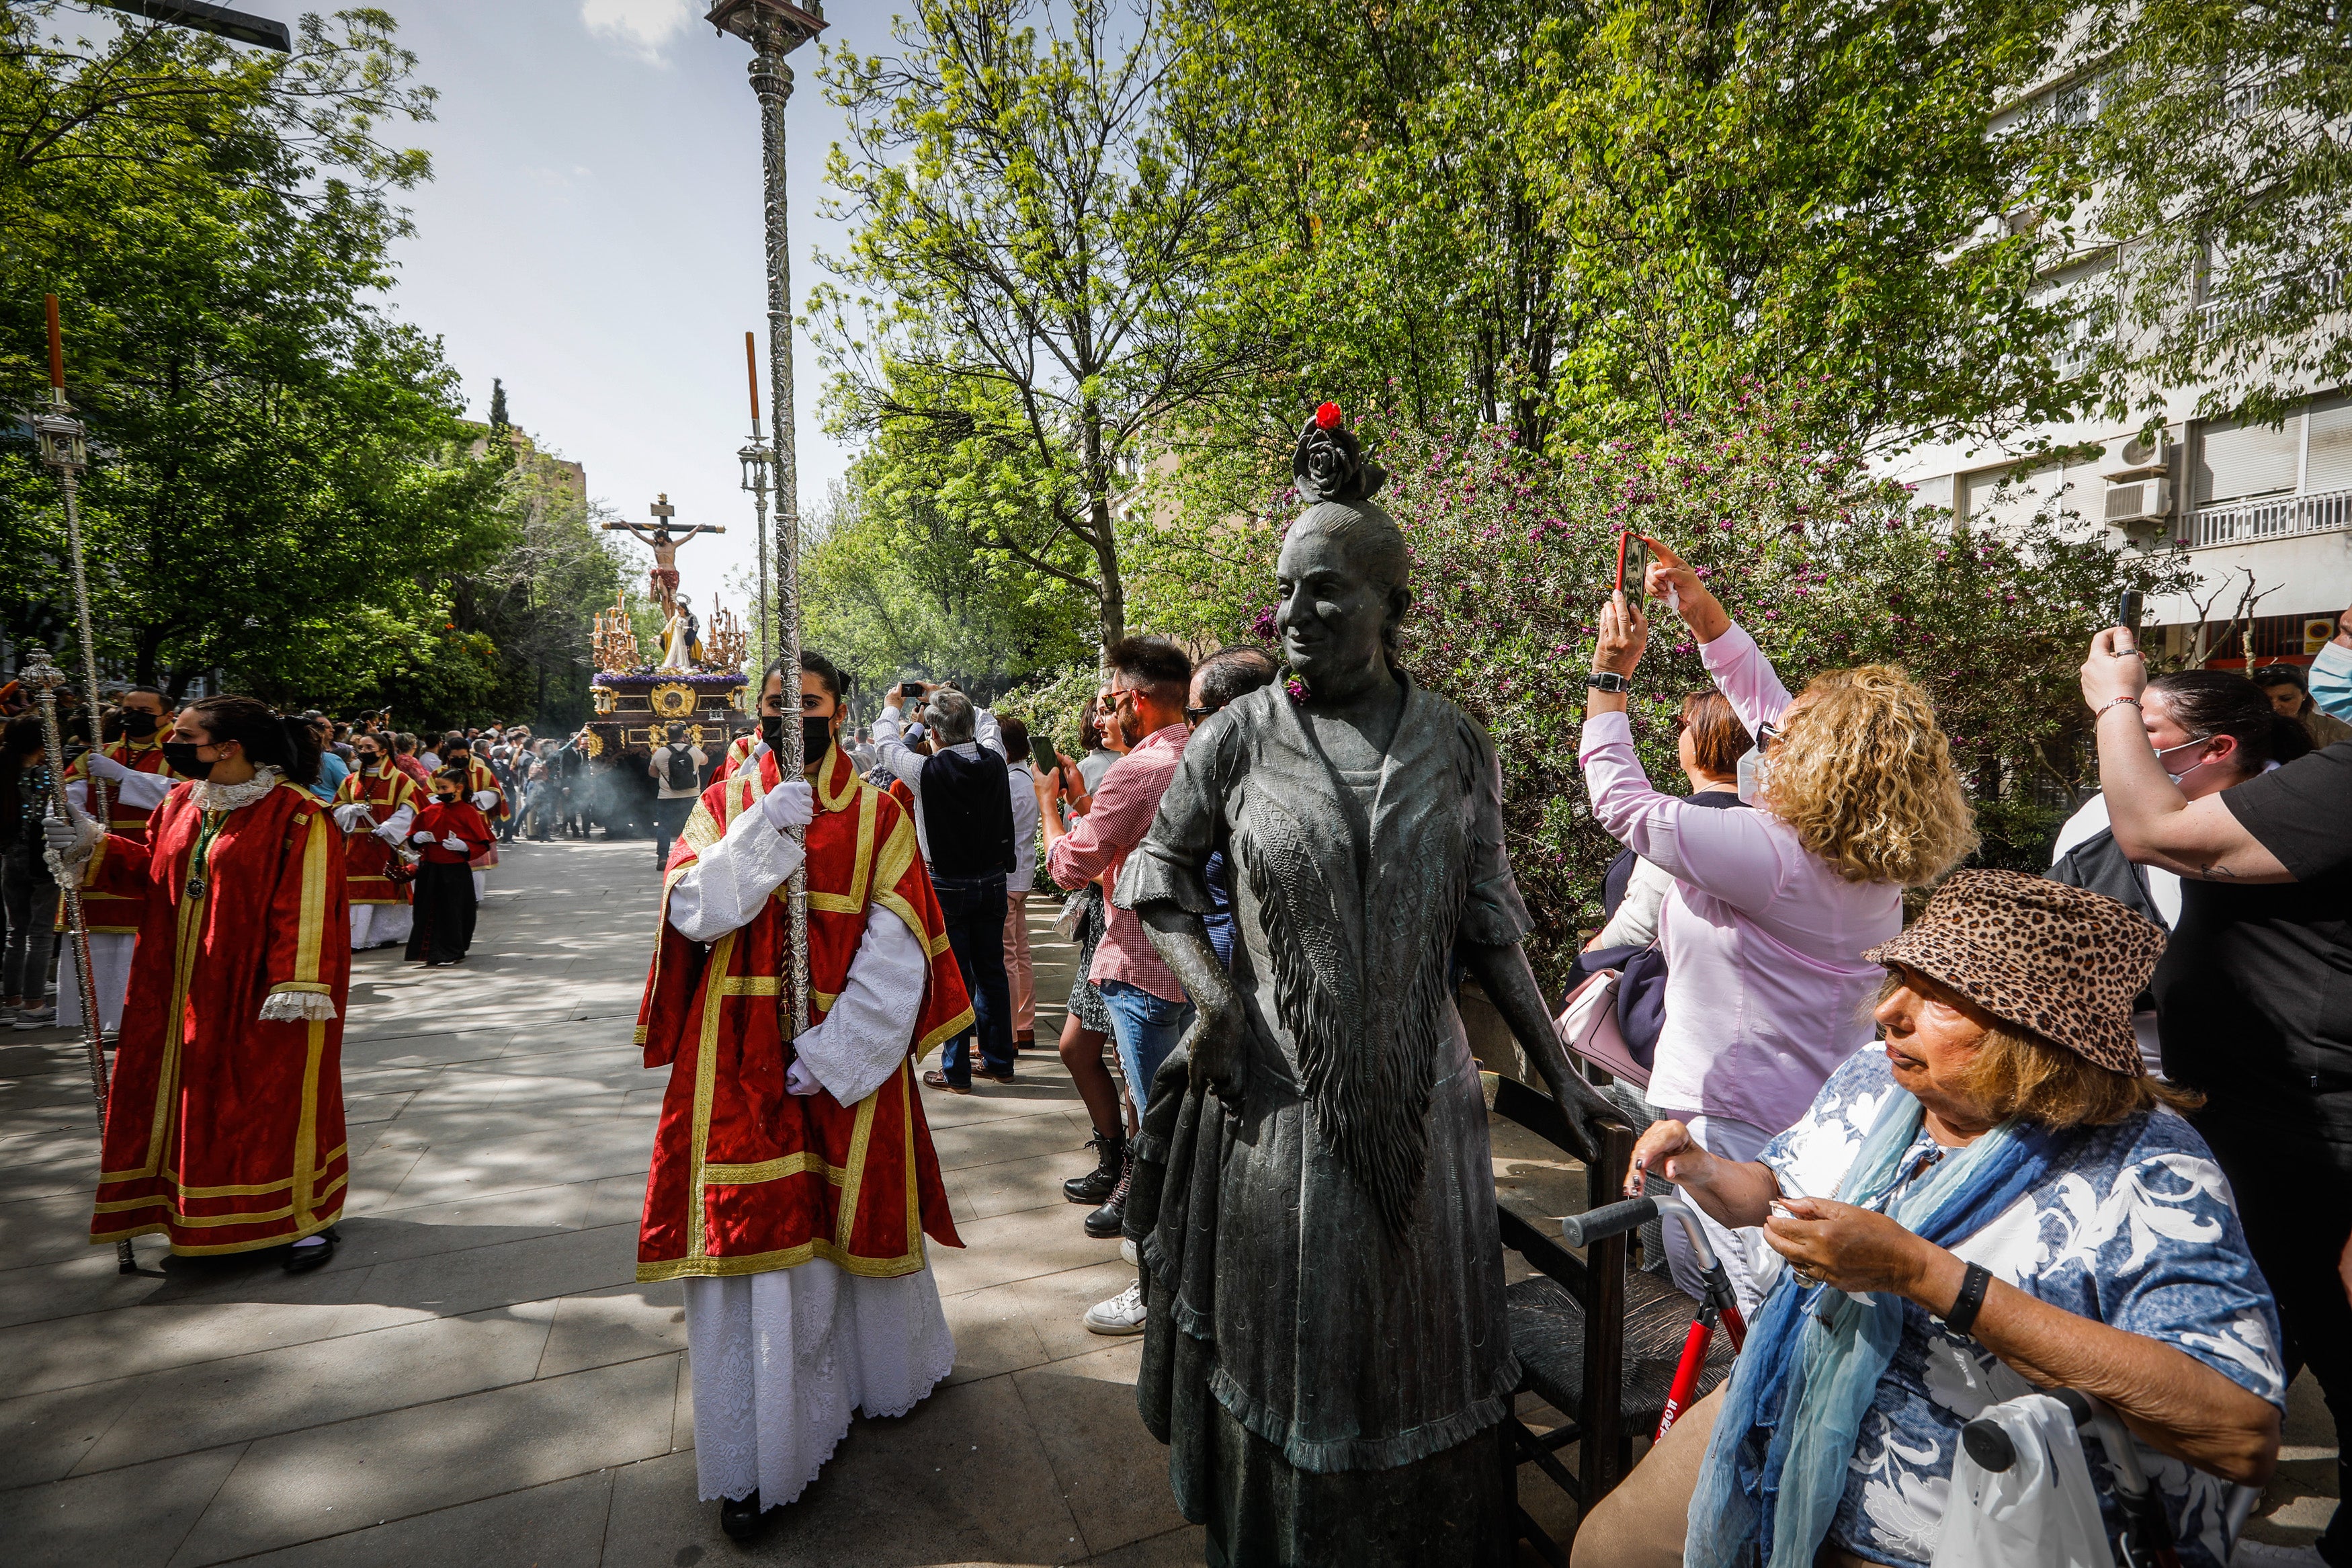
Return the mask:
<svg viewBox="0 0 2352 1568"><path fill-rule="evenodd" d="M1047 26L1040 38L1037 24ZM1124 42L1122 42L1124 40ZM1162 423L1251 362L1209 334L1240 179L1155 0L917 0L894 59L830 52L828 183L854 235L816 294L844 428L978 442L1018 505L976 538L1127 630L1117 508Z"/></svg>

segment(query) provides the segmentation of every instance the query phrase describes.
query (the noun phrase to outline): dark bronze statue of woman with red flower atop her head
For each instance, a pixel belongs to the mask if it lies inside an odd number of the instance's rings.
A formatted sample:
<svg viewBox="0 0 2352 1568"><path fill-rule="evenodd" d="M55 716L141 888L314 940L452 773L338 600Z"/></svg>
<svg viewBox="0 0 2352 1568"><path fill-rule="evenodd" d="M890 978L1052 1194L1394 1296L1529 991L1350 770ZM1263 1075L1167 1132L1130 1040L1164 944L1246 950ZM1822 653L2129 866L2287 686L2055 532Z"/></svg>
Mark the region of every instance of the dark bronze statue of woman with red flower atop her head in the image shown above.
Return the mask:
<svg viewBox="0 0 2352 1568"><path fill-rule="evenodd" d="M1200 726L1117 886L1200 1006L1190 1084L1162 1072L1181 1110L1145 1128L1164 1171L1138 1399L1209 1563L1505 1563L1517 1363L1463 971L1571 1121L1616 1112L1519 950L1494 745L1397 665L1385 475L1331 404L1294 470L1312 505L1275 618L1296 689ZM1202 926L1218 849L1230 976Z"/></svg>

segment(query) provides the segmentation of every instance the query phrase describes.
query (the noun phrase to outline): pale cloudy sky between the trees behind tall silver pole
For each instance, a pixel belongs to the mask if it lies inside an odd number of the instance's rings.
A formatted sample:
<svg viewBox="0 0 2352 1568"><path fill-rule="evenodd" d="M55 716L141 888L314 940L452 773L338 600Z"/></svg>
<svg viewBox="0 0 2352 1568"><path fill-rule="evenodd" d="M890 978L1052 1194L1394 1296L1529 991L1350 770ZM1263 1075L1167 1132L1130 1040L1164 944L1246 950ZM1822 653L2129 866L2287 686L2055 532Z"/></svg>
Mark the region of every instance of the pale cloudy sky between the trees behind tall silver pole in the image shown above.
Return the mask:
<svg viewBox="0 0 2352 1568"><path fill-rule="evenodd" d="M710 609L722 576L755 559L736 449L750 437L743 334L760 334L769 416L760 101L750 45L703 24L696 0L374 0L400 21L435 120L388 127L433 155L407 193L416 235L395 259L393 310L440 336L473 418L492 376L510 418L588 468L588 494L647 520L668 491L677 524L720 538L677 552ZM235 0L292 24L322 0ZM826 45L891 47L889 0L833 0ZM818 219L826 148L842 115L816 80L818 45L790 56L793 303L821 280L814 252L847 247ZM795 343L802 508L851 451L818 428L823 371ZM649 559L635 543L640 559ZM736 614L743 604L724 595Z"/></svg>

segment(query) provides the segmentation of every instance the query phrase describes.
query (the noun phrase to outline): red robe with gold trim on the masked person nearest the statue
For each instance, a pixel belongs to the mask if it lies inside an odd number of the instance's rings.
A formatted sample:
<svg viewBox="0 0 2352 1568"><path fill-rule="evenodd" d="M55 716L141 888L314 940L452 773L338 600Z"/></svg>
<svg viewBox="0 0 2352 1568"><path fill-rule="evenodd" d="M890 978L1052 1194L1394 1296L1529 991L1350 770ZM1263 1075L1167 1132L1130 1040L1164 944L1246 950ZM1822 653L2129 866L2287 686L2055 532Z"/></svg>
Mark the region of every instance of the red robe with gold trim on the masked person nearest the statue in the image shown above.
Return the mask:
<svg viewBox="0 0 2352 1568"><path fill-rule="evenodd" d="M776 788L774 752L760 778ZM889 907L929 952L929 978L908 1060L856 1105L786 1093L790 1046L776 1018L788 971L783 889L710 947L668 922L668 889L755 809L748 771L703 790L670 851L661 947L644 980L637 1044L647 1067L670 1067L654 1133L654 1168L637 1229L637 1279L764 1274L826 1258L849 1274L889 1279L924 1265L922 1237L962 1246L915 1093L910 1063L971 1025L971 1001L948 952L915 823L833 748L809 823L811 1023L849 980L870 905Z"/></svg>

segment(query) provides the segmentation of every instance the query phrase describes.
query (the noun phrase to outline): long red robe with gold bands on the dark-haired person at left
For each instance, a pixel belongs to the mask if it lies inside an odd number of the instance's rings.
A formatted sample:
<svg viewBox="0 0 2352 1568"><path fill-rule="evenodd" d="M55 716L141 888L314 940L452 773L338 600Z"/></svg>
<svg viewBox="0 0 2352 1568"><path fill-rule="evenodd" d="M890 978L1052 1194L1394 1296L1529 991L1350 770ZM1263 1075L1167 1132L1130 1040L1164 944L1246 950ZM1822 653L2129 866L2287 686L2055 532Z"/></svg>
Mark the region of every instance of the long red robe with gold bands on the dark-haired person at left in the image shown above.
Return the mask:
<svg viewBox="0 0 2352 1568"><path fill-rule="evenodd" d="M198 891L207 816L216 837ZM334 1225L350 1173L350 907L327 806L280 783L205 813L179 785L146 844L106 839L103 867L85 877L141 910L89 1239L162 1232L174 1253L242 1253ZM273 994L327 997L334 1018L261 1023Z"/></svg>

